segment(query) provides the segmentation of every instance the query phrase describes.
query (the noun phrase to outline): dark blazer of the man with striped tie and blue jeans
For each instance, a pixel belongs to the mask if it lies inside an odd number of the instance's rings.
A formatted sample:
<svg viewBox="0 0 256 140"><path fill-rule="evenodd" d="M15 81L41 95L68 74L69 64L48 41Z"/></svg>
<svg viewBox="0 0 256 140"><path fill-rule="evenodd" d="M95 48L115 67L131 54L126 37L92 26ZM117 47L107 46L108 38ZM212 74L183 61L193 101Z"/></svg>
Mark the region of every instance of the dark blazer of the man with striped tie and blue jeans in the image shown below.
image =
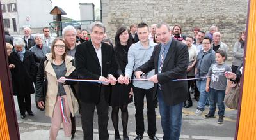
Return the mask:
<svg viewBox="0 0 256 140"><path fill-rule="evenodd" d="M138 67L135 71L148 73L155 69L165 104L173 106L188 98L187 81L172 81L175 79L186 78L186 70L189 62L188 46L184 43L172 39L172 43L164 59L162 73L158 73L158 60L161 50L161 44L156 45L152 57L148 62ZM154 96L157 97L158 83L154 84Z"/></svg>

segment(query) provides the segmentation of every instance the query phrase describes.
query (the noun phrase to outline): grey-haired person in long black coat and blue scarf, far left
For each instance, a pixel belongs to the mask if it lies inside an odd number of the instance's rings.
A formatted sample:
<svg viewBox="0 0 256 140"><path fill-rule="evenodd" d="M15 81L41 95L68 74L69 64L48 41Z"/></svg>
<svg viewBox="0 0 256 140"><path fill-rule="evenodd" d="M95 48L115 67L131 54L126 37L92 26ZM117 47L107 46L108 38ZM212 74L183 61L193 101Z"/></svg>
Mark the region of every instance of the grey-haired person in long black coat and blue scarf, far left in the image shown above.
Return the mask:
<svg viewBox="0 0 256 140"><path fill-rule="evenodd" d="M35 93L33 86L33 76L35 76L35 60L33 54L24 48L25 43L22 38L17 38L13 42L15 49L9 57L10 64L15 67L11 69L13 93L17 95L21 118L28 115L34 116L31 111L30 94Z"/></svg>

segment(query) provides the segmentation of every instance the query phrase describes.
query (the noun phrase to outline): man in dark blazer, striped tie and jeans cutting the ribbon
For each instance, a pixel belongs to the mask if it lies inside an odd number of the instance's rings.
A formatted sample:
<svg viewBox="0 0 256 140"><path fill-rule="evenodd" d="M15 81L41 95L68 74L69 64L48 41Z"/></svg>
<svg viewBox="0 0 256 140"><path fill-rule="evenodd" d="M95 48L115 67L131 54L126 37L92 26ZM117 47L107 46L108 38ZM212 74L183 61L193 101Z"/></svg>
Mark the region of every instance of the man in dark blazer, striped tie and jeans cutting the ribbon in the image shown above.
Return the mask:
<svg viewBox="0 0 256 140"><path fill-rule="evenodd" d="M156 35L161 44L156 45L148 62L135 71L136 78L155 69L148 80L154 82L154 97L158 97L163 139L179 140L183 102L188 99L187 81L172 81L186 78L188 47L172 38L170 27L165 23L156 25Z"/></svg>

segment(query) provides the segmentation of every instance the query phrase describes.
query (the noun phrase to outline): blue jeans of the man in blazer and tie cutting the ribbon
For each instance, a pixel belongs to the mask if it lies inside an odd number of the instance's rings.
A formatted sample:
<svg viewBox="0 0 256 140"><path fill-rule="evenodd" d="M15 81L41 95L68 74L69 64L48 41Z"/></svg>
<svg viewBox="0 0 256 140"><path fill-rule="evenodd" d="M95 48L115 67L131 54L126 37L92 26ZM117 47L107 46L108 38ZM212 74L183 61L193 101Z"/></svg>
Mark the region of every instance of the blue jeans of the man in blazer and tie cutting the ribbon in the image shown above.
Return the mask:
<svg viewBox="0 0 256 140"><path fill-rule="evenodd" d="M161 125L164 132L163 140L179 140L182 123L183 102L174 106L168 106L163 101L163 95L158 88L157 97L159 102L159 112L161 115Z"/></svg>

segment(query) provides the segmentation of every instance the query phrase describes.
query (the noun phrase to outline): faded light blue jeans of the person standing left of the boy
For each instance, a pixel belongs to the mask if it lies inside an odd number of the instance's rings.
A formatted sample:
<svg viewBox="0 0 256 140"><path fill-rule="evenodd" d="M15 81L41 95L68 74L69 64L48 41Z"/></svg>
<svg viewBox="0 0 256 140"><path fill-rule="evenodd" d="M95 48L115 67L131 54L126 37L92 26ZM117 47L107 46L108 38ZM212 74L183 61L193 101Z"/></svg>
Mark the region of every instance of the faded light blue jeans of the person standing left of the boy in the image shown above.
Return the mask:
<svg viewBox="0 0 256 140"><path fill-rule="evenodd" d="M202 80L202 81L196 80L196 85L200 92L197 109L204 111L205 104L207 103L207 100L209 99L209 92L205 91L206 79Z"/></svg>

